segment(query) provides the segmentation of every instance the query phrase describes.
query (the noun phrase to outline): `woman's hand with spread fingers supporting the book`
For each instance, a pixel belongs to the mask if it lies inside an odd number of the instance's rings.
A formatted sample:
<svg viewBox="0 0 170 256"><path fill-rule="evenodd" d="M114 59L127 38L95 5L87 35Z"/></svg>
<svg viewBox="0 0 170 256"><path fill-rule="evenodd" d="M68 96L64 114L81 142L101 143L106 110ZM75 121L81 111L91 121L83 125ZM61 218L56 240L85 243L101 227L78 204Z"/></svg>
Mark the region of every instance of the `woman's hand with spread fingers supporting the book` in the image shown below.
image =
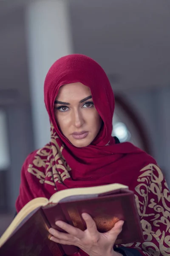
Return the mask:
<svg viewBox="0 0 170 256"><path fill-rule="evenodd" d="M85 231L72 227L63 221L57 221L56 225L67 233L50 228L49 233L52 235L51 240L59 244L75 245L90 256L119 255L119 253L113 250L113 245L117 236L122 231L124 221L118 221L114 227L106 233L99 233L96 228L96 223L90 215L82 213L82 218L85 220L87 226Z"/></svg>

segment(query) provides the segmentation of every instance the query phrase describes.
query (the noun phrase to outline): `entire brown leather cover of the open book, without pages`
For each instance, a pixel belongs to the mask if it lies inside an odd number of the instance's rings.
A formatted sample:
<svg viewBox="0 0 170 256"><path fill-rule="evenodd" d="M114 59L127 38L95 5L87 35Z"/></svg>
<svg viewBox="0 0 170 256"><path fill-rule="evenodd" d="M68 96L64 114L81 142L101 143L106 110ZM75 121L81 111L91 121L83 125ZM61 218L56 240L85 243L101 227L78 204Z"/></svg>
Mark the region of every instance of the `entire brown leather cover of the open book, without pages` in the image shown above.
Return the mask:
<svg viewBox="0 0 170 256"><path fill-rule="evenodd" d="M39 207L20 223L0 247L0 255L63 256L76 253L76 246L51 241L48 229L53 227L63 231L55 225L57 220L62 220L85 230L85 221L81 216L83 212L91 215L99 232L107 232L117 221L124 220L122 232L115 244L144 240L134 193L128 189L119 189L100 195L71 196L62 199L58 204L49 203L45 207Z"/></svg>

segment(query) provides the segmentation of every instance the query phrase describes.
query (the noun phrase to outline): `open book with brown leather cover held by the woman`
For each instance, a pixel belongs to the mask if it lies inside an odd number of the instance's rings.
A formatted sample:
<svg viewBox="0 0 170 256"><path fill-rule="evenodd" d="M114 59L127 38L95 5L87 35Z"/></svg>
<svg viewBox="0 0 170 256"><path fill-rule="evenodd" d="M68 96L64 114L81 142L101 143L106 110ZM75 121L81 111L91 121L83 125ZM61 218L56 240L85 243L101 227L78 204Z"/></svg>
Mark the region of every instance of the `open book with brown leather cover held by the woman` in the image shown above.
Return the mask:
<svg viewBox="0 0 170 256"><path fill-rule="evenodd" d="M28 202L17 214L0 238L0 254L37 255L72 254L77 247L56 244L49 239L48 229L57 220L85 230L81 217L87 212L94 218L99 232L107 232L119 220L124 220L122 233L117 243L142 241L142 228L133 192L122 184L65 189L47 198L35 198Z"/></svg>

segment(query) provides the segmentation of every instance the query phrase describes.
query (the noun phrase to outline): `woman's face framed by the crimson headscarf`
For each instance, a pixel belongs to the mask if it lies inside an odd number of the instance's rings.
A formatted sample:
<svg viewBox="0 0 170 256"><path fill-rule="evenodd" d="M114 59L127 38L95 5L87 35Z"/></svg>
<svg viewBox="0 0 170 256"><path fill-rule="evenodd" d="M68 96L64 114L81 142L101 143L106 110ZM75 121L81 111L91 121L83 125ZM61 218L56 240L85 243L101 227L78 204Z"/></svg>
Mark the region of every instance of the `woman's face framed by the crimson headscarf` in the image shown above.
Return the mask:
<svg viewBox="0 0 170 256"><path fill-rule="evenodd" d="M59 88L54 113L62 134L78 148L90 145L102 125L90 88L79 82Z"/></svg>

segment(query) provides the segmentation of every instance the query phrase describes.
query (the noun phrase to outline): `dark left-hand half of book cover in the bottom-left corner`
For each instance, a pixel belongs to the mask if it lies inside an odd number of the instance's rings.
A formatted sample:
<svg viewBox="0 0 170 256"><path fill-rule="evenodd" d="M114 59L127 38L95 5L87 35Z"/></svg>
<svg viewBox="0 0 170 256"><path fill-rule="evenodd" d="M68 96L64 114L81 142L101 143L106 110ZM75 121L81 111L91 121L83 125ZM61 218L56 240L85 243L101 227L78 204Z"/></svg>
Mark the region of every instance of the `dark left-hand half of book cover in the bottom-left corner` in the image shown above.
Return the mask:
<svg viewBox="0 0 170 256"><path fill-rule="evenodd" d="M60 244L52 242L48 232L49 224L39 208L28 220L21 224L0 247L2 256L63 256Z"/></svg>

